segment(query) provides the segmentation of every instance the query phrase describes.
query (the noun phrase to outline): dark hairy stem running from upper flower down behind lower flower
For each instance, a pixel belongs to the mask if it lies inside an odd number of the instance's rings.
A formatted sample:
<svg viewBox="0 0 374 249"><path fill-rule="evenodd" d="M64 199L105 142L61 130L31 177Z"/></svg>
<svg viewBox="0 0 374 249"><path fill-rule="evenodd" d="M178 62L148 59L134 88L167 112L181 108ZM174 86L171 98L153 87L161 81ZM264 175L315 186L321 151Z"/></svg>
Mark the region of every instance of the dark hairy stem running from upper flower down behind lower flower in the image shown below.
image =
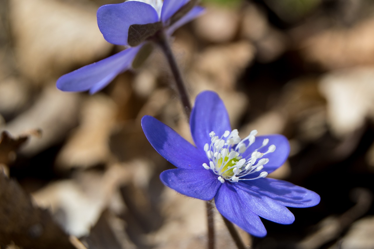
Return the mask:
<svg viewBox="0 0 374 249"><path fill-rule="evenodd" d="M188 98L186 85L183 82L181 72L178 68L177 61L175 61L173 52L171 50L171 47L170 47L170 44L168 42L166 35L162 33L160 34L160 36L158 36L158 38L159 38L158 44L160 45L163 52L165 53L166 59L168 59L170 69L174 76L177 90L181 98L183 107L184 107L184 112L186 113L187 120L188 120L191 114L191 103L190 103L190 98Z"/></svg>

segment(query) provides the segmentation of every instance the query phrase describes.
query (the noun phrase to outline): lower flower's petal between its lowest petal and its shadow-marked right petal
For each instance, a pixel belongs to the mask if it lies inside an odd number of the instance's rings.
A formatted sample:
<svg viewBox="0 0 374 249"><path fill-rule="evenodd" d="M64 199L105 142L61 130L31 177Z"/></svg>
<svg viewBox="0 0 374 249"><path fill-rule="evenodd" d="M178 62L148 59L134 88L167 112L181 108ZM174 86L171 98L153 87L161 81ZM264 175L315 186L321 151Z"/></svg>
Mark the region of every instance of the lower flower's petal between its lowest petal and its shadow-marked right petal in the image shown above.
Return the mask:
<svg viewBox="0 0 374 249"><path fill-rule="evenodd" d="M256 180L254 180L256 181ZM251 188L252 181L239 181L233 183L233 189L241 202L252 212L270 221L281 224L291 224L295 221L295 216L281 203L273 200Z"/></svg>

